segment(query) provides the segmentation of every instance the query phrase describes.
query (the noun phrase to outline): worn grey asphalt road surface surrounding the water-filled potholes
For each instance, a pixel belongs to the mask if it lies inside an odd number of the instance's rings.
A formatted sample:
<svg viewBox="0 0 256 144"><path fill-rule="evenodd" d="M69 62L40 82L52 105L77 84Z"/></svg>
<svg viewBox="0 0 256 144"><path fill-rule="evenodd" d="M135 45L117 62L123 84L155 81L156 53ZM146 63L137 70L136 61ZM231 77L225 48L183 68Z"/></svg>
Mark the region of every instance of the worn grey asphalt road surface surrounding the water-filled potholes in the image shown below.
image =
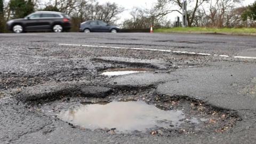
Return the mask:
<svg viewBox="0 0 256 144"><path fill-rule="evenodd" d="M255 143L255 40L195 34L0 34L0 143ZM100 75L124 67L151 71ZM239 121L222 132L113 134L80 129L43 110L81 99L133 95L137 100L144 94L143 100L163 105L156 95L202 101L236 114ZM67 95L77 98L67 102Z"/></svg>

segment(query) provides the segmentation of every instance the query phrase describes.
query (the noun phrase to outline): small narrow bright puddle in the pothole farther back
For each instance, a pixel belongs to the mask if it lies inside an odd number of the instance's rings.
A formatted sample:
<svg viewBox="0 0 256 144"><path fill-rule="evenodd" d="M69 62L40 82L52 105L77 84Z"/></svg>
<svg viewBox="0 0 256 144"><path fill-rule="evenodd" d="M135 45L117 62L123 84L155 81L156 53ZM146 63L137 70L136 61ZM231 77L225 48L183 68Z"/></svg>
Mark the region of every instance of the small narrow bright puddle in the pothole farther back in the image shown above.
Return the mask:
<svg viewBox="0 0 256 144"><path fill-rule="evenodd" d="M119 76L119 75L135 74L135 73L146 73L147 71L152 71L152 70L145 69L145 68L117 68L117 69L107 70L103 72L101 75Z"/></svg>

